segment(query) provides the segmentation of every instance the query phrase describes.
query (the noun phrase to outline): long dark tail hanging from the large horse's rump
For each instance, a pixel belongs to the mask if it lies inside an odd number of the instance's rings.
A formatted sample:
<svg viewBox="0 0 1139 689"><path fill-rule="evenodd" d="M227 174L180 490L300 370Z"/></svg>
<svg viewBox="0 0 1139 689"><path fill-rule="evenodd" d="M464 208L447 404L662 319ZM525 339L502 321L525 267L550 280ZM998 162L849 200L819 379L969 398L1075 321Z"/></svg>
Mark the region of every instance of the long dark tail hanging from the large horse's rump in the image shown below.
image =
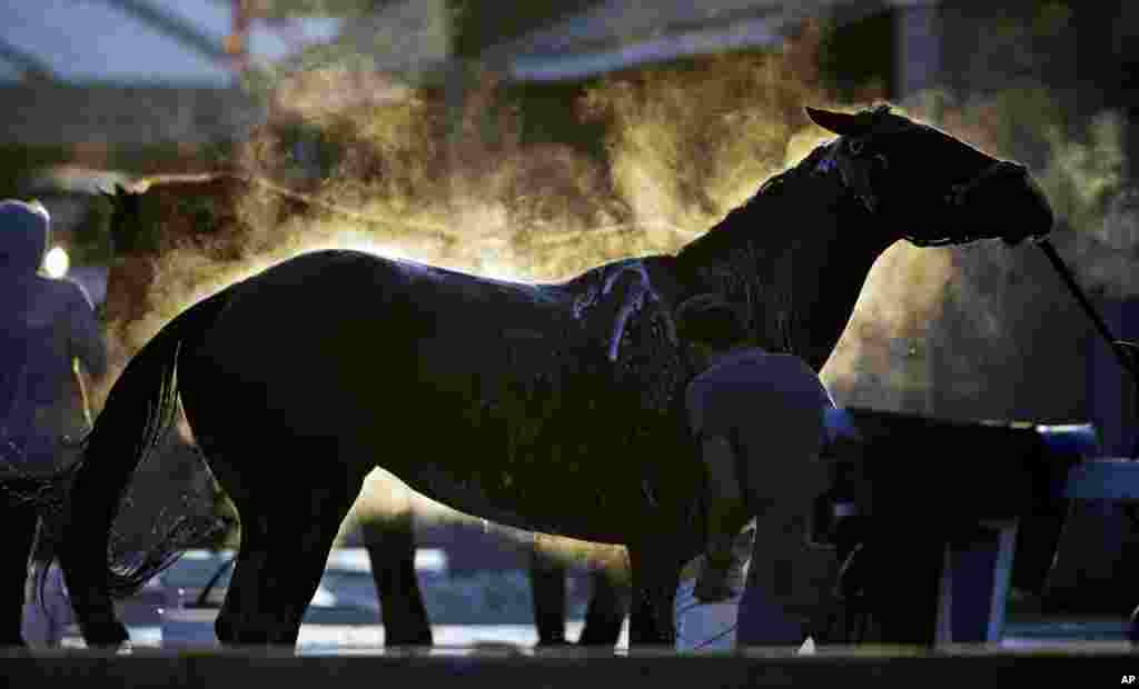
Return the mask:
<svg viewBox="0 0 1139 689"><path fill-rule="evenodd" d="M179 350L214 322L227 300L228 290L223 290L166 323L126 364L84 438L58 543L76 613L82 614L81 606L90 609L89 600L106 601L108 593L116 598L133 593L173 564L187 543L221 527L216 519L183 517L140 561L115 563L108 552L112 526L131 476L174 421ZM41 569L46 573L47 567Z"/></svg>

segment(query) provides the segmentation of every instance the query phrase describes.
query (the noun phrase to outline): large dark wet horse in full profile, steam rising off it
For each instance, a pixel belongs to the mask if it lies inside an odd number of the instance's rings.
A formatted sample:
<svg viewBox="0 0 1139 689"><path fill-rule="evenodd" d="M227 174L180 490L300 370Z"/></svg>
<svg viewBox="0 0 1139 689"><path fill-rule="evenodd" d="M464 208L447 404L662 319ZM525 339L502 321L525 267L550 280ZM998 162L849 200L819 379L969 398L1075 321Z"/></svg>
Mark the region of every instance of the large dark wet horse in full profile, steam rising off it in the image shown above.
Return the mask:
<svg viewBox="0 0 1139 689"><path fill-rule="evenodd" d="M1021 165L887 107L808 112L839 137L677 255L528 285L319 252L183 311L113 386L75 476L59 557L87 642L125 641L113 592L167 561L110 567L107 543L180 396L241 519L222 642L295 643L341 520L382 466L477 517L624 544L630 641L671 645L679 572L704 546L681 394L695 371L673 310L719 294L763 346L819 369L898 239L1017 243L1052 224Z"/></svg>

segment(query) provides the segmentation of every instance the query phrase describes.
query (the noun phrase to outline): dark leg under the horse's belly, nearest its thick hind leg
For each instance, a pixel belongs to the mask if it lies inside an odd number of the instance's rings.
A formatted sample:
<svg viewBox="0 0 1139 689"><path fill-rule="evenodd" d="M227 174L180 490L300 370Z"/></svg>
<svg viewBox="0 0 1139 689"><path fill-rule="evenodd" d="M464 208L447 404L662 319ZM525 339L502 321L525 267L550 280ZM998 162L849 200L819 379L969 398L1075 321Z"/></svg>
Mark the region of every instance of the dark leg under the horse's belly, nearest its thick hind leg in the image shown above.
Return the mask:
<svg viewBox="0 0 1139 689"><path fill-rule="evenodd" d="M371 559L385 646L431 646L431 623L416 575L416 538L410 512L360 524Z"/></svg>

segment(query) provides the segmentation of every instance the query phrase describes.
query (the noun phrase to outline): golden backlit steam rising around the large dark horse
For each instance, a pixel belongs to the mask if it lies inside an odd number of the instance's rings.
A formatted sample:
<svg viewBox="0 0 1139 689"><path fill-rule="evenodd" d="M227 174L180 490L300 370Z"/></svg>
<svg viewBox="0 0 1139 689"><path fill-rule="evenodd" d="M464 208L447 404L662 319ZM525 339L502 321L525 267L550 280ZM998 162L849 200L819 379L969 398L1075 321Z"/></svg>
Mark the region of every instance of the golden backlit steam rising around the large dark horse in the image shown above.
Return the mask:
<svg viewBox="0 0 1139 689"><path fill-rule="evenodd" d="M273 117L232 157L244 177L212 189L155 184L147 195L153 218L165 224L164 244L148 259L154 278L145 315L112 323L120 359L190 303L316 248L359 248L518 280L674 252L830 138L802 114L804 105L834 100L814 69L818 38L809 26L778 52L714 56L596 82L565 107L583 126L603 126L600 156L557 138L528 141L526 112L510 89L475 68L459 82L461 98L361 68L359 60L274 75ZM1074 230L1057 239L1081 279L1134 294L1128 268L1139 196L1123 188L1116 115L1070 131L1066 113L1039 85L967 100L931 92L907 114L993 155L1030 162ZM187 212L187 204L206 211ZM1024 339L1009 334L1025 330L1014 325L1067 298L1058 282L1025 281L1027 252L991 243L887 251L825 369L838 401L917 411L980 401L973 409L998 415L1030 409L1010 396L1007 379L994 380L993 369L978 363L1023 354ZM928 366L933 350L937 375ZM993 395L1001 401L985 407ZM357 505L360 515L412 508L432 509L382 471Z"/></svg>

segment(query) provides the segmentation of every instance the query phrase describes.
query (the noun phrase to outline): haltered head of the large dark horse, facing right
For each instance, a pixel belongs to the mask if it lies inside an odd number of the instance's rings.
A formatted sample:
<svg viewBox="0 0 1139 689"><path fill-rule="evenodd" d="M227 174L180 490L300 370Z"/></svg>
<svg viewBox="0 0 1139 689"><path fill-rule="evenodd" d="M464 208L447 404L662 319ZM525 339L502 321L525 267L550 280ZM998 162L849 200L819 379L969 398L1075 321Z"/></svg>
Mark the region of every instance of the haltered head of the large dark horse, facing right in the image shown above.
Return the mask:
<svg viewBox="0 0 1139 689"><path fill-rule="evenodd" d="M806 108L839 136L817 170L841 175L866 208L918 246L1001 238L1016 244L1052 228L1052 211L1027 170L890 112Z"/></svg>

